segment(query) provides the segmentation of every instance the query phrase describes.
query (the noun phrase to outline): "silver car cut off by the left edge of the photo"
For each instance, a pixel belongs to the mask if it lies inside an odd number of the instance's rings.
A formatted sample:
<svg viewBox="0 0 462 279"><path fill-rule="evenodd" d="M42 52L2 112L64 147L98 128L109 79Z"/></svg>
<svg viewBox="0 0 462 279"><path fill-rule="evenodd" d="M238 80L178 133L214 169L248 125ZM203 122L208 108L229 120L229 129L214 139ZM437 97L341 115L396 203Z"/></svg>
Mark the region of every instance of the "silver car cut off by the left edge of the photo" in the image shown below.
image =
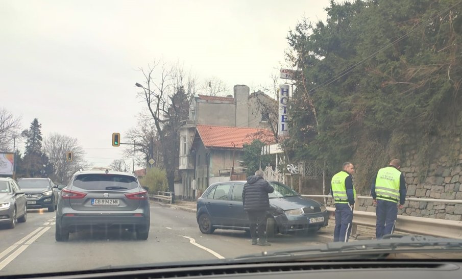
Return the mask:
<svg viewBox="0 0 462 279"><path fill-rule="evenodd" d="M0 177L0 224L14 229L16 222L26 222L26 197L16 181Z"/></svg>

